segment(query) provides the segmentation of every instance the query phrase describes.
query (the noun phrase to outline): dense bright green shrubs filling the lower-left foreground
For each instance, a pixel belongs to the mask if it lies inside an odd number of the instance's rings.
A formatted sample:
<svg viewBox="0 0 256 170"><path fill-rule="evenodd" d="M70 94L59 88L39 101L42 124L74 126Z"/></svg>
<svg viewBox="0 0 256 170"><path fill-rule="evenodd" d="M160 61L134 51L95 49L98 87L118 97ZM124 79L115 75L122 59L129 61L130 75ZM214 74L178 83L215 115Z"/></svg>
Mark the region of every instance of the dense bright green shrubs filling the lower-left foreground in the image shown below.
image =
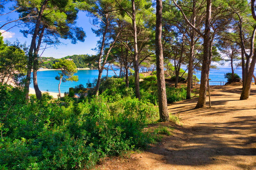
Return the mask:
<svg viewBox="0 0 256 170"><path fill-rule="evenodd" d="M24 102L18 98L23 91L0 88L0 169L88 169L104 156L151 142L143 128L158 113L149 102L118 93L80 103L47 94Z"/></svg>

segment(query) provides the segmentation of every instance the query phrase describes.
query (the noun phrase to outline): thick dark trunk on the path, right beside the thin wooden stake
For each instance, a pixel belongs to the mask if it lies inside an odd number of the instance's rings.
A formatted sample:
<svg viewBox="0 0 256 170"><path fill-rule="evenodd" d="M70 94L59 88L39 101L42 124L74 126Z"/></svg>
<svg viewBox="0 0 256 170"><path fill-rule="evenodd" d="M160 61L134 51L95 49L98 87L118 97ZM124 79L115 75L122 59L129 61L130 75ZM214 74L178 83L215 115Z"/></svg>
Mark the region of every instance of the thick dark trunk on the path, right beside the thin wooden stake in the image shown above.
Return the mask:
<svg viewBox="0 0 256 170"><path fill-rule="evenodd" d="M212 1L207 0L207 9L206 9L206 21L204 28L204 55L203 55L203 64L201 70L201 84L199 91L199 99L195 108L203 108L206 102L207 95L207 79L209 78L209 67L211 64L212 57L212 42L210 37L210 21L212 13Z"/></svg>

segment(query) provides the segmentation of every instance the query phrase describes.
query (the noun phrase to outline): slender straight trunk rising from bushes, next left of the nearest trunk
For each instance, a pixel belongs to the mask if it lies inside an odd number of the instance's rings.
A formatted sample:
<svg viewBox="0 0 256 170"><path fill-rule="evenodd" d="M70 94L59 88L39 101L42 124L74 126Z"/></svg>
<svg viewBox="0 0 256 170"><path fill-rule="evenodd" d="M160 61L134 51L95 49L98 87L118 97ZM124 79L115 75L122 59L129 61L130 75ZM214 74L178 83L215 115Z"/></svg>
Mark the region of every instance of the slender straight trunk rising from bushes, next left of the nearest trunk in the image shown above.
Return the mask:
<svg viewBox="0 0 256 170"><path fill-rule="evenodd" d="M140 100L140 75L139 75L139 59L137 45L137 26L136 26L136 11L135 0L131 0L132 5L132 26L134 29L134 78L135 78L135 96Z"/></svg>

